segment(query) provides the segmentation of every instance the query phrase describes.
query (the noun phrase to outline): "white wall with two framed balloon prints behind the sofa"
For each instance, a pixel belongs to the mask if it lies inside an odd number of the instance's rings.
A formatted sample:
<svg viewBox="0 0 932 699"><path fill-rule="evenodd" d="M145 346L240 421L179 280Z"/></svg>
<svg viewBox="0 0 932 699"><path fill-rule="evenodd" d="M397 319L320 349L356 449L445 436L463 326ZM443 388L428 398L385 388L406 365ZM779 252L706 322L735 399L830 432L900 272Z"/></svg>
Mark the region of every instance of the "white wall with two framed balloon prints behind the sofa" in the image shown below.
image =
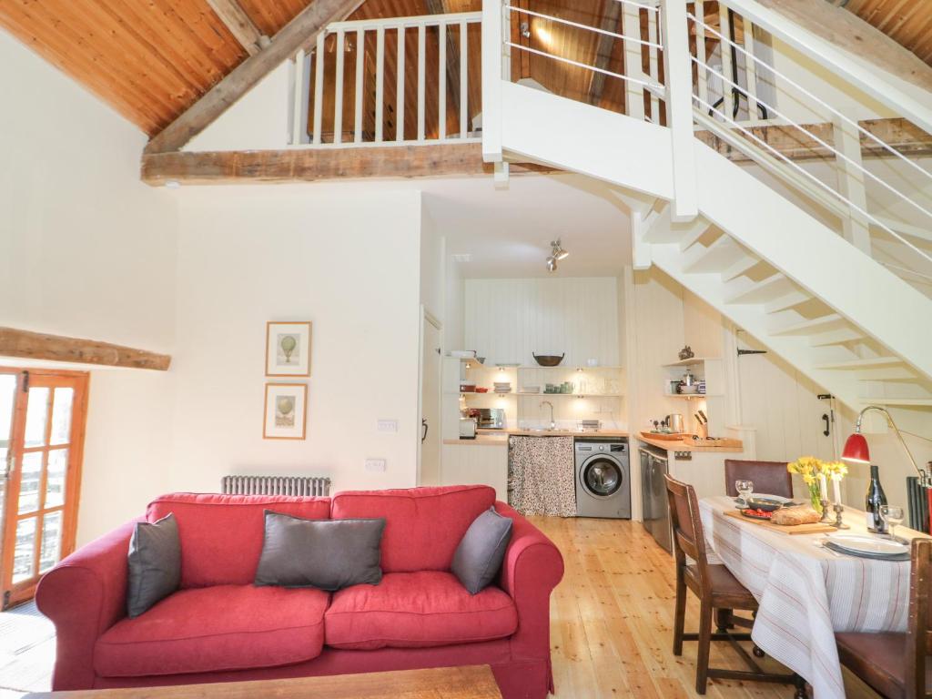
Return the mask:
<svg viewBox="0 0 932 699"><path fill-rule="evenodd" d="M417 470L420 195L359 187L177 192L171 487L227 473L411 487ZM266 322L313 322L306 441L262 438ZM377 432L378 418L398 420ZM387 460L385 473L363 470Z"/></svg>

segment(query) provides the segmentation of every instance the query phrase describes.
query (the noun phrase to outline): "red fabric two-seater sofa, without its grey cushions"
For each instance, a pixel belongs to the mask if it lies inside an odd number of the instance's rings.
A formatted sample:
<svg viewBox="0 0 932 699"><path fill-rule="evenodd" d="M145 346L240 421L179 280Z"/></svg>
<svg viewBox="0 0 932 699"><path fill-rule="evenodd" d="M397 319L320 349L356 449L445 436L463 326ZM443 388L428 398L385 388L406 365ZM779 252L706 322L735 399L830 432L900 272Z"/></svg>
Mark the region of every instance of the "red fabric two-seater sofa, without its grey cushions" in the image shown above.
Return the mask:
<svg viewBox="0 0 932 699"><path fill-rule="evenodd" d="M449 571L473 519L494 503L514 520L497 585L470 596ZM384 577L329 594L254 587L264 511L316 519L385 517ZM69 555L39 583L55 624L52 687L143 687L491 665L505 699L553 691L550 593L563 576L553 542L486 486L288 498L176 493L181 588L126 616L129 522ZM138 520L137 520L138 521Z"/></svg>

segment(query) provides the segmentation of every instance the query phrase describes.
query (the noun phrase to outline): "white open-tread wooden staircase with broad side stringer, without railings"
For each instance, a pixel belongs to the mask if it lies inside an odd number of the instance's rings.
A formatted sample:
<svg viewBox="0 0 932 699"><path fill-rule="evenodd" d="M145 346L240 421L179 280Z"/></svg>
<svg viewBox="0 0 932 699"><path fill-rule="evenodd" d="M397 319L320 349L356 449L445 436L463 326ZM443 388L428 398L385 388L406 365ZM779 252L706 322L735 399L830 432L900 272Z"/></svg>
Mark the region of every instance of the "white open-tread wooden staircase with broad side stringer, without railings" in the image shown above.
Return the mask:
<svg viewBox="0 0 932 699"><path fill-rule="evenodd" d="M494 34L493 16L487 8L484 33ZM484 36L485 46L494 40ZM676 221L674 151L684 142L675 121L661 127L528 89L498 78L492 63L487 159L530 158L623 187L635 267L660 267L843 404L932 407L932 299L909 281L692 132L685 160L698 215Z"/></svg>

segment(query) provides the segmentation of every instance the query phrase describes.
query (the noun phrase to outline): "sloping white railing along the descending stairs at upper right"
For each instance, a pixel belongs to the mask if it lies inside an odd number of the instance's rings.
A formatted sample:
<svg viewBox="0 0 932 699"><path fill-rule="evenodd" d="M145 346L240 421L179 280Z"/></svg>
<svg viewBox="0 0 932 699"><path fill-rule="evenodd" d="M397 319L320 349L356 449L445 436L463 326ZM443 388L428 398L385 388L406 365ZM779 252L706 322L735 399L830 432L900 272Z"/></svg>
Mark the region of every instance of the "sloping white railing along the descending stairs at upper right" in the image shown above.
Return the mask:
<svg viewBox="0 0 932 699"><path fill-rule="evenodd" d="M724 4L721 4L721 7L725 7ZM732 10L729 11L731 12ZM814 172L802 167L802 165L792 158L788 158L784 153L775 148L774 145L762 138L761 135L755 132L749 125L736 120L729 109L722 108L722 103L712 103L707 94L703 93L702 85L705 81L701 79L701 76L712 75L715 79L719 80L723 86L726 86L726 92L732 91L733 94L743 95L748 100L753 99L754 103L761 105L769 114L778 119L780 126L785 130L795 131L802 136L803 142L817 144L830 158L833 158L835 166L842 177L847 177L849 180L850 178L854 178L856 182L870 182L878 186L880 189L884 190L888 196L895 199L898 204L902 204L904 207L911 209L912 212L919 214L929 230L932 230L932 210L900 191L898 187L888 183L883 177L878 176L866 168L860 157L860 138L863 136L872 144L879 146L879 149L882 150L886 156L895 158L909 169L913 177L923 182L932 183L932 172L926 171L914 160L907 158L892 145L885 143L876 134L862 127L856 118L843 114L840 109L818 97L811 89L804 88L799 81L775 70L773 65L761 61L759 57L738 45L732 38L722 34L720 31L716 30L715 27L707 24L704 19L700 19L700 16L692 12L687 12L687 17L692 27L694 27L694 34L710 34L714 36L721 42L722 47L728 46L730 48L729 52L732 55L741 55L748 65L754 64L757 66L756 73L766 71L767 74L772 75L774 82L779 86L781 92L792 89L802 95L809 103L815 104L818 108L824 110L824 113L835 124L835 137L833 141L843 139L844 132L847 131L849 134L854 134L857 151L852 154L850 149L848 149L849 152L845 152L845 149L839 147L838 144L829 143L828 140L820 135L820 130L817 130L814 125L803 125L799 123L799 121L788 115L785 110L779 108L776 104L761 99L760 95L754 95L753 98L751 98L750 90L748 89L749 85L739 85L733 80L733 77L723 75L715 67L701 61L700 57L692 55L691 62L695 66L696 73L700 75L700 79L694 83L692 91L693 117L696 124L703 129L712 131L727 144L741 150L749 158L761 165L762 168L780 177L784 182L792 185L804 196L828 209L829 212L832 212L842 219L854 217L869 222L870 226L880 228L887 235L898 240L899 243L908 248L912 254L925 260L926 263L932 264L932 254L929 254L914 244L906 236L902 235L886 218L869 210L863 188L859 196L857 192L854 196L851 196L850 192L844 193L839 191L838 188L830 186L817 177ZM722 51L722 53L724 54L725 51ZM725 104L727 105L727 102ZM853 240L853 242L855 241ZM866 241L866 244L865 241L861 241L859 247L862 247L862 249L866 248L864 252L870 254L870 240ZM905 273L905 276L912 278L918 277L926 281L932 281L932 277L912 269L911 267L902 267L893 263L879 261L881 264L894 269L898 273Z"/></svg>

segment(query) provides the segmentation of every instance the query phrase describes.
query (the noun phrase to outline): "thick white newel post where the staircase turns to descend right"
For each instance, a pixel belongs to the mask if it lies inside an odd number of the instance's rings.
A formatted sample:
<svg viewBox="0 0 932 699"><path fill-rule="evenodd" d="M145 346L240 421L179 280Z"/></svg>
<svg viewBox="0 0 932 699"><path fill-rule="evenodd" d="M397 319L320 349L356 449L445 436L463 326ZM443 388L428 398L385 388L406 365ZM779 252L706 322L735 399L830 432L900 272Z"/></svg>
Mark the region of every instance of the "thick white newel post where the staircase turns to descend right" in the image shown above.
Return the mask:
<svg viewBox="0 0 932 699"><path fill-rule="evenodd" d="M692 135L692 57L686 0L662 0L665 37L666 124L673 146L672 220L692 221L699 213L695 142Z"/></svg>

